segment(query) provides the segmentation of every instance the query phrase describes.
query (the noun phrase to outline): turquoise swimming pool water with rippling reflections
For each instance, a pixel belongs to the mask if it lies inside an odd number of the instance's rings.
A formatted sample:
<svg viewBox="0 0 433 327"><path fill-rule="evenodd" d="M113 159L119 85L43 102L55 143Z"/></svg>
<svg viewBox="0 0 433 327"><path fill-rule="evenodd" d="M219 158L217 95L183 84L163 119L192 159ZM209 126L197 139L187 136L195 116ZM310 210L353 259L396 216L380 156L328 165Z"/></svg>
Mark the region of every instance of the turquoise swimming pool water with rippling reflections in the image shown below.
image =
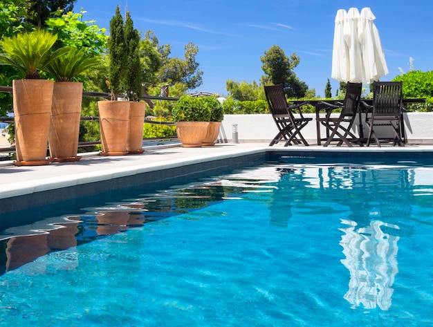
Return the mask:
<svg viewBox="0 0 433 327"><path fill-rule="evenodd" d="M432 326L433 167L379 163L288 158L8 239L0 326Z"/></svg>

